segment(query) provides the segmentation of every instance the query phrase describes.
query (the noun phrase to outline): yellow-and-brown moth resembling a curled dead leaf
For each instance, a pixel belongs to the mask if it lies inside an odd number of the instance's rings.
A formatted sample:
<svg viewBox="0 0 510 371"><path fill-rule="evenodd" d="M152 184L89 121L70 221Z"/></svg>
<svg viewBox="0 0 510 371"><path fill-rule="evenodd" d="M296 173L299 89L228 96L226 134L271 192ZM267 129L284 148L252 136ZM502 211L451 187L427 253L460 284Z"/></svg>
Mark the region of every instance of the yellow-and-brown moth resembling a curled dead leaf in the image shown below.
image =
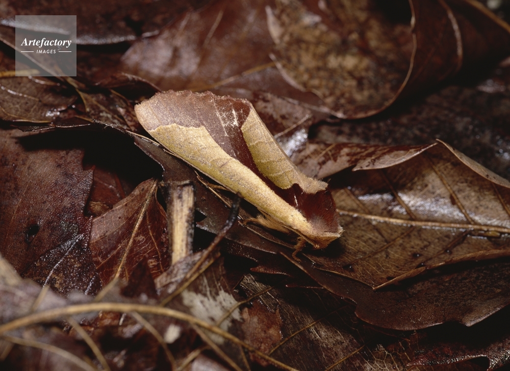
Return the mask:
<svg viewBox="0 0 510 371"><path fill-rule="evenodd" d="M259 224L299 235L295 253L307 241L320 249L341 236L327 184L300 172L248 100L168 91L135 112L173 154L256 206Z"/></svg>

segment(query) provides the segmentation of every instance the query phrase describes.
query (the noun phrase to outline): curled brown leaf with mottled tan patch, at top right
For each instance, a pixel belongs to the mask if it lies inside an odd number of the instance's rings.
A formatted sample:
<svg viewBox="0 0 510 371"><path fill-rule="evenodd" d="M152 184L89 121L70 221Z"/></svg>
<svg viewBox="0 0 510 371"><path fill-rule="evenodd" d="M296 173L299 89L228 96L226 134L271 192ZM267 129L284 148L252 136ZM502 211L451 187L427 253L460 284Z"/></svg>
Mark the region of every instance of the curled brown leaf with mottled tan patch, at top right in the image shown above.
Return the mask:
<svg viewBox="0 0 510 371"><path fill-rule="evenodd" d="M410 5L412 30L391 19L398 14L388 16L403 3L277 1L268 11L272 59L291 85L317 94L336 116L362 118L510 52L510 26L475 1Z"/></svg>

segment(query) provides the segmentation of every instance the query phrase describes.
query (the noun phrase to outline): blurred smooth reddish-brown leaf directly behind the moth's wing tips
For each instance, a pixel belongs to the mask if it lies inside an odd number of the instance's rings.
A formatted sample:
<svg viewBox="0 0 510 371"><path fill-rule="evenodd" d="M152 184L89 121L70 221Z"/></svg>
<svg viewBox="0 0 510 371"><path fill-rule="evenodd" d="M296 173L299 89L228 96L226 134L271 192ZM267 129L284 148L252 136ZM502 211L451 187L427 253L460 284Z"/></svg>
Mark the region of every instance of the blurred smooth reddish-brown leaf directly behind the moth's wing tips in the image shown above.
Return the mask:
<svg viewBox="0 0 510 371"><path fill-rule="evenodd" d="M211 90L248 99L251 92L266 91L317 109L321 100L289 85L269 58L266 6L272 1L217 1L183 14L158 36L135 42L121 69L162 90Z"/></svg>

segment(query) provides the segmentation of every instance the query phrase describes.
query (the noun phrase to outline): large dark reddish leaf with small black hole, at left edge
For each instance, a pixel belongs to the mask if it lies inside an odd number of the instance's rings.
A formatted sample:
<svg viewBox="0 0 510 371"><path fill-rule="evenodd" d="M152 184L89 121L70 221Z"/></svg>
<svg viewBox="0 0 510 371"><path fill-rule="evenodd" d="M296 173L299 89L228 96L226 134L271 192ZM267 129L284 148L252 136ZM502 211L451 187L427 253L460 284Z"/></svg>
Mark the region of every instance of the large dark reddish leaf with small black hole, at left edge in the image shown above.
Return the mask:
<svg viewBox="0 0 510 371"><path fill-rule="evenodd" d="M100 281L83 214L93 174L83 170L83 151L53 149L52 135L0 133L1 252L25 277L95 294Z"/></svg>

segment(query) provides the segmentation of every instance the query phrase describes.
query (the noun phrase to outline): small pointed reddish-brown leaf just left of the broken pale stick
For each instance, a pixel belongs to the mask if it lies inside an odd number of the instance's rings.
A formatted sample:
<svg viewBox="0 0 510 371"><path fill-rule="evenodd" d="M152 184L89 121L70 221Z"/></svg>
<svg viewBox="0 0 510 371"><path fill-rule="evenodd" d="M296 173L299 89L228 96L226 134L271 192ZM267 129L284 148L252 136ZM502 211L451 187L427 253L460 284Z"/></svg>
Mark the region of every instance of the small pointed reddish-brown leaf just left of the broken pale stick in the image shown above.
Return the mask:
<svg viewBox="0 0 510 371"><path fill-rule="evenodd" d="M168 269L166 213L156 190L156 181L147 180L92 221L90 249L103 284L113 278L128 281L142 260L153 279Z"/></svg>

